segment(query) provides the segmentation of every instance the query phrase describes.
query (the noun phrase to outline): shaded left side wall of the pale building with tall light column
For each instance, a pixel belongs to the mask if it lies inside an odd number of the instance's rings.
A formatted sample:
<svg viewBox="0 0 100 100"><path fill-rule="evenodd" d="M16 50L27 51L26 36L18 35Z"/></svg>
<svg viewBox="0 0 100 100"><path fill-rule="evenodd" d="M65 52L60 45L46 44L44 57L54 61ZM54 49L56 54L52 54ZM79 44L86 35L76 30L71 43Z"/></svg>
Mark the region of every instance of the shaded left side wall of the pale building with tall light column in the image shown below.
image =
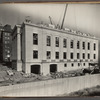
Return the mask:
<svg viewBox="0 0 100 100"><path fill-rule="evenodd" d="M15 26L12 33L12 68L22 71L21 58L21 30L20 25Z"/></svg>

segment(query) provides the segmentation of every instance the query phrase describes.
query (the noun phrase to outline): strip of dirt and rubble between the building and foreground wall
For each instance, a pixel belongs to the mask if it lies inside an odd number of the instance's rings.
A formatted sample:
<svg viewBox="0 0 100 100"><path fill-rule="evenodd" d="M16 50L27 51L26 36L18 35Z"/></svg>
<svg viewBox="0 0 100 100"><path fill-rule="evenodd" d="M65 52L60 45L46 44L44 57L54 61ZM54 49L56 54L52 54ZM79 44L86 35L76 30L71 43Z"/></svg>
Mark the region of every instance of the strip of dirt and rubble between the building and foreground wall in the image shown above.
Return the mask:
<svg viewBox="0 0 100 100"><path fill-rule="evenodd" d="M1 65L0 65L1 66ZM77 77L88 74L95 74L100 73L100 70L97 67L91 67L88 69L78 69L72 71L60 71L60 72L51 72L47 75L41 74L34 74L34 73L23 73L18 72L16 70L12 70L7 66L0 67L0 86L7 86L7 85L14 85L20 83L27 83L27 82L35 82L35 81L44 81L44 80L51 80L56 78L68 78L68 77Z"/></svg>

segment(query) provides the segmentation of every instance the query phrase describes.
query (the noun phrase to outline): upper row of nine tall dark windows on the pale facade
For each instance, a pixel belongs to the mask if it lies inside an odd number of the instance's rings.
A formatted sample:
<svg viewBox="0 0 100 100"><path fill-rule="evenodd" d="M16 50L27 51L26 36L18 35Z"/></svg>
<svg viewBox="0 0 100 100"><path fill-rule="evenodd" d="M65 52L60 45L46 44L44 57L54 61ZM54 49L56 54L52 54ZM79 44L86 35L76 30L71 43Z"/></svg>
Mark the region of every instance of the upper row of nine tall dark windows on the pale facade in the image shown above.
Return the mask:
<svg viewBox="0 0 100 100"><path fill-rule="evenodd" d="M47 36L47 46L51 46L51 36ZM33 44L38 45L38 34L33 33ZM55 46L59 47L59 37L55 37ZM63 39L63 47L67 47L67 39ZM70 48L74 48L74 41L71 40ZM77 41L77 49L80 49L80 41ZM85 49L85 42L82 42L82 49ZM90 50L90 43L87 44L87 49ZM96 50L96 44L94 43L93 50Z"/></svg>

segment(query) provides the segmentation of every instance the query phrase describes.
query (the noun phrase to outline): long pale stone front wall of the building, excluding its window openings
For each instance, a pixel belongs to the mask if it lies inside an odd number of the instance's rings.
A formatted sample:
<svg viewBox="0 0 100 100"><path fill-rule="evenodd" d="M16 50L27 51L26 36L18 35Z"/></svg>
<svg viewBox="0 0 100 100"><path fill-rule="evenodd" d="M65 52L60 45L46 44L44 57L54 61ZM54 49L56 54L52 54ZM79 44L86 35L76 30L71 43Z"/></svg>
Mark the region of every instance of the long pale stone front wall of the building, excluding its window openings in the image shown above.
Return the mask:
<svg viewBox="0 0 100 100"><path fill-rule="evenodd" d="M58 31L48 28L41 28L38 26L25 24L22 31L22 61L23 71L26 73L31 72L31 65L40 65L41 73L50 73L50 64L57 64L57 71L75 70L83 67L89 67L90 62L98 62L98 40L77 36L72 33L65 33L64 31ZM38 45L33 45L33 33L38 34ZM51 36L51 46L46 46L46 37ZM59 37L59 47L55 47L55 37ZM63 38L67 39L67 48L63 48ZM74 48L70 48L70 41L74 41ZM80 49L77 49L77 41L80 41ZM85 50L82 49L82 42L85 42ZM87 50L87 43L90 42L90 50ZM93 50L93 45L96 44L96 50ZM38 51L38 59L33 59L33 50ZM47 59L46 51L51 51L51 59ZM55 52L59 52L59 59L55 59ZM63 52L67 52L67 59L63 59ZM74 58L70 58L70 53L74 53ZM78 60L76 54L80 53L80 59ZM82 54L85 53L85 59ZM87 58L87 54L90 54L90 59ZM96 59L93 55L96 54ZM76 60L76 61L75 61ZM82 61L80 61L82 60ZM72 67L72 63L74 66ZM80 66L78 66L80 63ZM85 66L83 66L85 63ZM64 67L67 64L67 67ZM25 68L24 68L25 67Z"/></svg>

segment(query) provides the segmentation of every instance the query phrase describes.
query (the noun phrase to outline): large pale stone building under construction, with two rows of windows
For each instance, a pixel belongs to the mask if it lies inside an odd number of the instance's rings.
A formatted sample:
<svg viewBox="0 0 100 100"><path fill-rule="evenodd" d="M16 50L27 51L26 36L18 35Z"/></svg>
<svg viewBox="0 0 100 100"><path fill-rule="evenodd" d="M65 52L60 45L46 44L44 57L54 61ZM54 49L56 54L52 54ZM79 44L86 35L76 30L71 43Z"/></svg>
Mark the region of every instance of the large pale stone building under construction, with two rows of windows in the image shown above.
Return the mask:
<svg viewBox="0 0 100 100"><path fill-rule="evenodd" d="M25 73L46 75L98 63L98 39L89 34L24 22L13 29L12 41L12 67Z"/></svg>

